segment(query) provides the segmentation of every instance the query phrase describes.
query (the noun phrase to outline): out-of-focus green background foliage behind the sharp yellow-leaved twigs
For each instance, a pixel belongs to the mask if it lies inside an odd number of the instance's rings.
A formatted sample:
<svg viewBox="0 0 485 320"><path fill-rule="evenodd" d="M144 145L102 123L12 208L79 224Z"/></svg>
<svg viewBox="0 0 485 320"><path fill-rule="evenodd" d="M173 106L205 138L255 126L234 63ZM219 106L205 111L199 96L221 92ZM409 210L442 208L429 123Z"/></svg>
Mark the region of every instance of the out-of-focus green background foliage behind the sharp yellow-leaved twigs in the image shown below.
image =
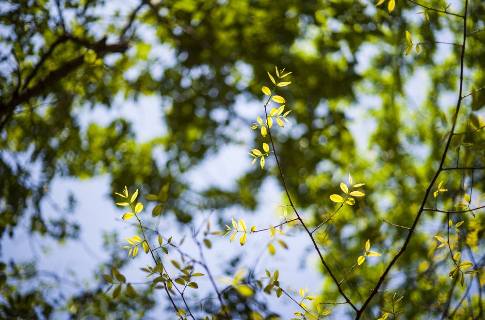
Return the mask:
<svg viewBox="0 0 485 320"><path fill-rule="evenodd" d="M355 269L342 285L352 300L363 302L407 235L406 229L383 219L409 226L423 186L438 167L456 105L460 52L458 46L434 42L461 43L462 20L427 11L428 22L416 14L422 8L411 1L398 1L391 14L366 0L143 0L127 1L119 8L117 2L0 4L0 107L84 56L79 67L46 83L39 94L0 117L1 237L14 237L21 230L59 241L79 236L75 216L60 213L53 219L41 210L50 184L59 177L109 174L112 195L125 185L138 186L142 194L158 194L168 185L160 219L175 215L181 224L190 223L202 209L216 209L221 227L228 221L223 209L254 210L266 171L248 169L229 190L215 185L194 190L186 175L227 144L260 145L256 134L254 141L242 139L240 133L250 131L252 115L237 105L259 101L261 86L268 84L266 71L278 65L293 72L292 85L285 91L293 126L276 134L276 148L305 219L318 225L332 213L328 196L337 192L349 172L366 183L368 196L344 208L317 236L331 268L340 270L342 277L362 254L367 239L382 254L375 264ZM433 8L442 5L437 0L424 2ZM449 10L463 11L462 2L454 1ZM484 16L484 2L470 1L468 29L484 29ZM422 44L420 54L404 56L405 30L415 41L430 44ZM119 41L130 48L125 53L101 53L94 45L100 41ZM464 93L485 85L484 41L485 32L468 37ZM137 101L141 96L161 98L160 127L165 130L160 137L137 142L129 117L82 124L82 112L111 108L117 97ZM458 132L483 125L484 102L485 91L464 100ZM458 161L460 167L483 167L484 134L477 130L453 138L445 167ZM277 173L271 169L272 160L266 166L270 174ZM472 203L483 203L483 170L444 171L441 180L450 191L438 198L439 208L453 210L454 203L471 193L467 190L472 181ZM428 202L426 207L435 206L434 198ZM458 244L481 270L468 280L475 283L473 298L455 314L456 319L468 319L478 314L482 302L485 217L477 211L476 218L450 218L454 223L465 221L460 238L464 241ZM443 313L452 280L444 251L435 251L434 235L442 235L446 225L446 214L425 212L409 249L381 288L404 295L406 319ZM116 261L106 265L121 263ZM1 275L6 279L2 318L49 318L53 310L69 312L73 318L143 318L155 305L152 298L113 303L101 287L50 301L44 282L37 288L20 282L36 276L34 265L7 264ZM337 301L336 286L324 271L323 276L324 301ZM464 290L452 291L453 306ZM141 295L153 297L150 290ZM241 308L251 307L236 292L226 295ZM384 296L376 296L372 305L384 307ZM353 314L348 306L337 307ZM264 305L255 308L271 314ZM249 315L251 310L244 312ZM369 308L365 319L376 316L378 308Z"/></svg>

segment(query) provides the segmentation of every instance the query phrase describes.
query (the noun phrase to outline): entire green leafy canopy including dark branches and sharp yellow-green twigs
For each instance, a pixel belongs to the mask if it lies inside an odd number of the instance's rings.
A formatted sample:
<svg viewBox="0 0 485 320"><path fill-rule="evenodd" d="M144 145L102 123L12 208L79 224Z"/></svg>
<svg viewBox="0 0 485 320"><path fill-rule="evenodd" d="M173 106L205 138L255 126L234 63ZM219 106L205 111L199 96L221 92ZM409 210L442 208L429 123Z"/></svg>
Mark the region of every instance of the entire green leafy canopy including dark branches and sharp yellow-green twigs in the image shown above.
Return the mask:
<svg viewBox="0 0 485 320"><path fill-rule="evenodd" d="M42 278L35 261L6 256L2 248L1 317L136 319L152 315L163 301L162 319L212 314L310 319L318 313L349 319L483 319L484 17L485 3L476 0L0 4L2 240L27 232L60 244L78 241L83 230L69 211L89 199L70 195L67 212L59 210L55 217L42 208L51 201L51 184L68 178L108 176L113 205L122 202L115 193L128 201L138 190L138 198L128 202L141 201L145 209L140 213L133 206L130 214L139 213L147 228L146 238L144 229L137 229L140 241L131 231L106 235L109 257L99 261L97 285L68 296L55 290L46 296L52 283ZM159 134L140 140L132 119L146 108L140 103L144 97L157 98L161 117L157 128L149 128ZM113 105L119 101L133 105L131 116L116 114ZM85 114L99 110L115 116L84 123ZM274 117L273 126L266 116ZM261 128L271 134L261 135ZM230 146L246 152L224 153ZM258 158L251 167L247 152ZM191 183L190 176L211 157L240 173L230 186L203 173L197 176L202 187ZM230 176L221 169L218 175ZM261 210L262 186L270 180L277 183L281 207ZM96 210L96 203L92 207ZM229 216L229 209L251 213L244 218L247 227L238 222L242 218ZM255 223L249 220L258 214L274 215L271 226L251 230ZM207 230L199 228L201 219ZM177 223L171 233L163 229L166 221ZM309 284L300 285L305 308L275 270L241 272L237 243L250 242L250 231L266 228L261 247L267 254L277 256L296 234L308 234L298 237L305 242L296 245L296 256L318 251L319 260L307 268L318 268L322 282L311 284L313 295L304 290ZM244 230L244 241L238 234L238 241L229 243L235 229ZM219 230L230 234L221 238ZM278 241L269 237L277 230ZM177 284L168 285L167 279L127 285L124 268L145 268L131 245L149 245L145 251L157 261L151 241L162 247L173 237L170 244L178 248L167 245L169 258L162 260L182 263L184 235L193 235L198 262L214 243L234 253L234 259L217 262L232 285L215 279L215 291L200 294L208 299L191 300L174 291L172 304L169 291L176 288L168 287ZM127 237L133 260L119 248ZM138 255L145 255L143 249L140 245ZM190 269L184 269L191 266L185 259L186 265L175 265L180 272ZM211 264L200 263L207 267L204 277ZM164 269L149 268L149 274L163 278ZM52 281L60 281L56 277ZM185 289L189 282L180 279ZM110 283L122 285L106 294ZM188 286L187 291L199 290ZM272 309L270 298L281 305L298 300L296 313ZM317 306L320 311L310 311ZM174 307L184 313L176 315Z"/></svg>

